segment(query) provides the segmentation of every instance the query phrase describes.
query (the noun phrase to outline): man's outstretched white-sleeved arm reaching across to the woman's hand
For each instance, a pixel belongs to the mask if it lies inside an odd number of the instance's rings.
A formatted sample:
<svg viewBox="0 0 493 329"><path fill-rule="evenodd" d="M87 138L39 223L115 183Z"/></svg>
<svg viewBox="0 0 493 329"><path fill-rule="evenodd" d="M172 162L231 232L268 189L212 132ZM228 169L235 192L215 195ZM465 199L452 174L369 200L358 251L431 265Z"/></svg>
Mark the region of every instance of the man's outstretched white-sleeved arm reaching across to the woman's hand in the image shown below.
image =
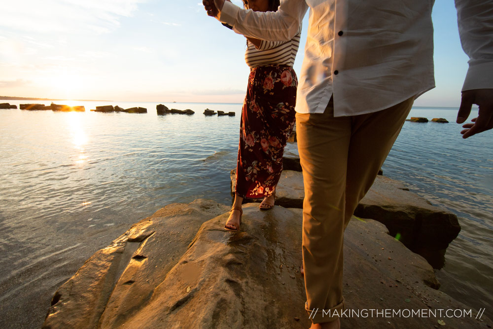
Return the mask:
<svg viewBox="0 0 493 329"><path fill-rule="evenodd" d="M291 40L308 10L305 0L281 0L275 12L242 9L228 0L203 0L202 3L208 15L231 25L236 33L267 41ZM214 7L217 10L214 11Z"/></svg>

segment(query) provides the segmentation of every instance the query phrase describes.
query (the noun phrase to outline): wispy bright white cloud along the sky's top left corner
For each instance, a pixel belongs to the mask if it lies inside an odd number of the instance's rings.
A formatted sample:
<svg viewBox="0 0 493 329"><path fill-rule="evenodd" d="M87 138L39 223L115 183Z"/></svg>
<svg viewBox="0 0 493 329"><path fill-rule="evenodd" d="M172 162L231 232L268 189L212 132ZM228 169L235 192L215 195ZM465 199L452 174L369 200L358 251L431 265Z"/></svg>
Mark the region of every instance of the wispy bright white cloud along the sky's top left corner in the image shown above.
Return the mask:
<svg viewBox="0 0 493 329"><path fill-rule="evenodd" d="M22 0L0 11L0 26L29 32L107 33L145 0Z"/></svg>

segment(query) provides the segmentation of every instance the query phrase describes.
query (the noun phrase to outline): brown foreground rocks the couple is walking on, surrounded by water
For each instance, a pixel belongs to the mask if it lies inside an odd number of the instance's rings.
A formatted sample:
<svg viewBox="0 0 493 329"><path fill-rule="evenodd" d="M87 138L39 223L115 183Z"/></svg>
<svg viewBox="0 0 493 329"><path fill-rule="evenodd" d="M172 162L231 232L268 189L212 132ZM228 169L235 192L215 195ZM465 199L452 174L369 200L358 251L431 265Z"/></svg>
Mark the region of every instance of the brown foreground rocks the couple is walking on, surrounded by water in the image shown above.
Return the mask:
<svg viewBox="0 0 493 329"><path fill-rule="evenodd" d="M96 252L60 287L43 328L308 328L299 273L303 181L290 170L299 166L295 144L286 148L288 158L293 166L284 162L274 209L246 204L241 230L231 233L223 229L226 205L198 199L162 208ZM433 268L410 250L446 248L460 230L455 215L380 176L356 216L345 233L348 309L471 309L440 292ZM475 319L477 311L459 318L343 316L341 323L491 326L486 316Z"/></svg>

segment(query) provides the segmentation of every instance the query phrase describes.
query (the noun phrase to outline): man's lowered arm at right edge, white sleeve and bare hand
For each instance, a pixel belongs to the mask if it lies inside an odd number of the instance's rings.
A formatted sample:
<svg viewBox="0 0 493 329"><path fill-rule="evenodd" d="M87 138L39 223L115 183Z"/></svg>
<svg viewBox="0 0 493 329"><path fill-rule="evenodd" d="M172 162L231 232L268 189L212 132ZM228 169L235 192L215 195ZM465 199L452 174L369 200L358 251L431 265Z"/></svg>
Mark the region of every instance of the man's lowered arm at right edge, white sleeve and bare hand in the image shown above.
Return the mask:
<svg viewBox="0 0 493 329"><path fill-rule="evenodd" d="M455 0L462 49L469 70L462 87L457 123L463 123L473 104L479 106L473 123L463 125L463 138L493 128L493 0Z"/></svg>

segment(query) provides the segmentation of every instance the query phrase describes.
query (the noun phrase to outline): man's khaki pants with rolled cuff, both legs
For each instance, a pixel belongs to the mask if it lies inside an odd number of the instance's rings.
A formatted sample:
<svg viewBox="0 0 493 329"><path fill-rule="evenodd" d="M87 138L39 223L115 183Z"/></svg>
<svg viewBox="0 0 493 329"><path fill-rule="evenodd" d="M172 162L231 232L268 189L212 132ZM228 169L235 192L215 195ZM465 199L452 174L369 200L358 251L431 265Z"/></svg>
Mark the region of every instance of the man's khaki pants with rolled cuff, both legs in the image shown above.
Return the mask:
<svg viewBox="0 0 493 329"><path fill-rule="evenodd" d="M413 102L414 97L375 113L334 117L331 98L324 113L296 113L305 184L305 309L313 323L333 321L337 316L332 313L344 309L344 230L377 177Z"/></svg>

